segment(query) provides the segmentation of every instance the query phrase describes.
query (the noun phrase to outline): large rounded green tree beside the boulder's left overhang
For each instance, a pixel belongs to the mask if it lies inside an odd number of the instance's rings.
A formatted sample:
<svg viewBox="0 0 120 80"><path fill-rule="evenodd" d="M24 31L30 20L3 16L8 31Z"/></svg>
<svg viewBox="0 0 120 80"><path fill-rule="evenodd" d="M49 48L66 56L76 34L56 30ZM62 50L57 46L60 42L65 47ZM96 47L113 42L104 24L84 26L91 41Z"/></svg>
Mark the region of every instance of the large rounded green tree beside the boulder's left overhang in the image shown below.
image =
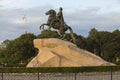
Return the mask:
<svg viewBox="0 0 120 80"><path fill-rule="evenodd" d="M6 46L5 58L10 63L26 62L32 56L35 56L36 50L33 46L33 39L36 36L32 33L23 34Z"/></svg>

